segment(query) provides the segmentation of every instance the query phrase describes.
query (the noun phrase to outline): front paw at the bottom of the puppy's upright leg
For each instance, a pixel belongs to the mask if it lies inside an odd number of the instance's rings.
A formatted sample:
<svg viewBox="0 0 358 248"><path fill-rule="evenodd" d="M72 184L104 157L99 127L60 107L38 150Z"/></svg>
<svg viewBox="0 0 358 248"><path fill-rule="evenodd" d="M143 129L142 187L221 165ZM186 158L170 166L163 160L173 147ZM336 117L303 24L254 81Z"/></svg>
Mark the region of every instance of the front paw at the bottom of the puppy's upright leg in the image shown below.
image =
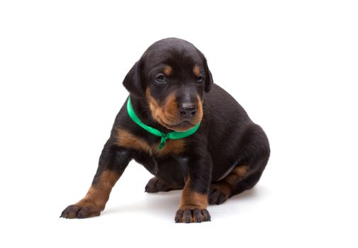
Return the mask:
<svg viewBox="0 0 358 248"><path fill-rule="evenodd" d="M203 222L211 221L210 214L206 209L179 209L175 214L175 222Z"/></svg>

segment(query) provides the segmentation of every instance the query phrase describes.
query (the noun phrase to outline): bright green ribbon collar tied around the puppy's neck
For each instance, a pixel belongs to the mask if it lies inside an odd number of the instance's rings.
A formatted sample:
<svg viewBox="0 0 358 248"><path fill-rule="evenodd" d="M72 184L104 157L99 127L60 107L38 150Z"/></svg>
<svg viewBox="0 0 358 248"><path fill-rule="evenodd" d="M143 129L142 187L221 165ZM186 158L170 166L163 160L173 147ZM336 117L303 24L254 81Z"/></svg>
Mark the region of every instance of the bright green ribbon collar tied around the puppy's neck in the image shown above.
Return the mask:
<svg viewBox="0 0 358 248"><path fill-rule="evenodd" d="M128 97L128 101L127 101L127 111L128 111L128 115L130 116L130 118L135 123L140 125L141 128L147 130L152 135L161 137L159 150L161 150L164 147L167 139L177 140L177 139L182 139L183 137L188 137L188 136L192 135L193 133L195 133L196 130L198 130L199 125L200 125L200 123L199 123L194 128L191 128L184 132L174 131L174 132L170 132L170 133L162 133L162 132L160 132L160 130L157 130L155 128L150 127L149 125L145 125L144 123L142 123L142 121L140 120L140 118L138 117L138 115L135 113L135 111L133 109L132 103L130 102L130 97Z"/></svg>

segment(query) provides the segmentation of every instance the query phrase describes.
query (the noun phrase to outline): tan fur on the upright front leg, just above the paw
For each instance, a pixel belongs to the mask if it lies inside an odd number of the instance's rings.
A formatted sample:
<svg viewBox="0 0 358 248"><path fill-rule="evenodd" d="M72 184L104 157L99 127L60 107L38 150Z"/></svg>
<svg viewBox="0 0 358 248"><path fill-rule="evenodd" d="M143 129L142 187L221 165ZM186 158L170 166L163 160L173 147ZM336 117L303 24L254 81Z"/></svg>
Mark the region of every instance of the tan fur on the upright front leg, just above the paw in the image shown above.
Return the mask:
<svg viewBox="0 0 358 248"><path fill-rule="evenodd" d="M203 210L208 207L208 195L191 191L191 178L186 180L183 191L181 192L181 201L179 210Z"/></svg>

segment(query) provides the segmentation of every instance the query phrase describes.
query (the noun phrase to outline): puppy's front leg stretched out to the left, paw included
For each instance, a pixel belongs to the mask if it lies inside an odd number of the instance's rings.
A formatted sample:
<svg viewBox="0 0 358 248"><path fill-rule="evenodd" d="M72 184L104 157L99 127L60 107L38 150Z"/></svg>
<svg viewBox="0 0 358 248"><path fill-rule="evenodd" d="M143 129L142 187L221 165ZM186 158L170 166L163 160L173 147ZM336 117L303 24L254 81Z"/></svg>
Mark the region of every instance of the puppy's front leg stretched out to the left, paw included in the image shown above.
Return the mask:
<svg viewBox="0 0 358 248"><path fill-rule="evenodd" d="M78 203L65 208L60 217L89 218L100 215L106 206L114 184L123 174L130 159L128 150L120 149L113 145L111 139L108 140L102 150L99 167L86 196Z"/></svg>

